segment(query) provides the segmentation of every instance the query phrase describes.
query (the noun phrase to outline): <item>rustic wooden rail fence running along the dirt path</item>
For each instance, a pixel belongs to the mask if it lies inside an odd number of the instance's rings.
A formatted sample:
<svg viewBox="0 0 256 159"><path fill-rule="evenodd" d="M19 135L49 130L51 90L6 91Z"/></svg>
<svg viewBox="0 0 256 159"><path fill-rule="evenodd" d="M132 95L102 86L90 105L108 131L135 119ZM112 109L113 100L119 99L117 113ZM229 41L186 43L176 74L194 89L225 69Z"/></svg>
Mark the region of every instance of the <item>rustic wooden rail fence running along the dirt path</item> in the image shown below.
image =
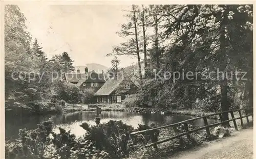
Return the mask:
<svg viewBox="0 0 256 159"><path fill-rule="evenodd" d="M244 110L245 111L245 115L242 116L242 113L241 111ZM249 111L252 110L250 113ZM234 114L233 112L238 112L239 113L239 116L238 118L234 118ZM222 114L224 113L230 113L231 115L231 119L229 120L225 120L223 121L222 120ZM220 119L221 119L221 122L218 122L218 123L214 123L214 124L208 124L207 122L207 117L210 117L210 116L215 116L215 115L219 115ZM149 133L150 131L153 131L153 130L158 130L158 129L162 129L162 128L165 128L165 127L174 127L174 126L178 126L180 124L184 124L184 128L185 128L185 133L182 133L182 134L179 134L179 135L176 135L172 138L168 138L168 139L164 139L164 140L161 140L161 141L157 141L157 142L153 142L153 143L150 143L150 144L147 144L145 145L145 147L150 147L150 146L155 146L157 144L161 144L161 143L164 143L164 142L167 142L167 141L170 141L170 140L173 140L173 139L176 139L176 138L179 138L179 137L182 137L182 136L187 136L187 138L190 138L189 134L191 133L195 133L196 131L199 131L199 130L202 130L202 129L206 129L206 133L207 133L207 136L210 138L210 130L209 130L209 127L212 127L212 126L217 126L217 125L221 125L221 124L224 124L226 122L230 122L230 121L233 121L233 124L234 124L234 128L236 130L238 130L238 126L237 126L237 123L236 123L236 120L237 119L240 119L241 121L241 127L243 127L243 118L246 118L247 120L247 123L249 124L249 116L252 116L252 119L253 119L253 108L247 108L247 109L238 109L238 110L229 110L229 111L224 111L224 112L219 112L219 113L214 113L214 114L211 114L211 115L206 115L206 116L202 116L202 117L197 117L197 118L193 118L193 119L188 119L188 120L184 120L184 121L181 121L181 122L178 122L178 123L174 123L174 124L169 124L169 125L165 125L165 126L160 126L160 127L156 127L156 128L151 128L151 129L145 129L145 130L141 130L141 131L136 131L136 132L133 132L131 133L131 135L136 135L136 134L143 134L143 133ZM204 125L203 127L200 127L200 128L197 128L197 129L193 129L193 130L188 130L188 122L191 122L191 121L194 121L194 120L199 120L199 119L203 119L204 120Z"/></svg>

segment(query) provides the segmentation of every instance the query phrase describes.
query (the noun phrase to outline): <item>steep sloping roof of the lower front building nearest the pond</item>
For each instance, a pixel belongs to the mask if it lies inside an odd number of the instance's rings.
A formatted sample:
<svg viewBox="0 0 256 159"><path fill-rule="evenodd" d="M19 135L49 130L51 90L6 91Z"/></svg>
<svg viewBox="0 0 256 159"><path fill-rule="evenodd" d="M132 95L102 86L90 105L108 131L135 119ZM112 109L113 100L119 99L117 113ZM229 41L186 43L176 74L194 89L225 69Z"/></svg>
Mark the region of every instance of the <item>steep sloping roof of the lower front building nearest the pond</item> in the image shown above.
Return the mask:
<svg viewBox="0 0 256 159"><path fill-rule="evenodd" d="M94 93L94 95L110 95L115 89L118 88L122 81L123 78L119 78L117 80L108 80L97 92Z"/></svg>

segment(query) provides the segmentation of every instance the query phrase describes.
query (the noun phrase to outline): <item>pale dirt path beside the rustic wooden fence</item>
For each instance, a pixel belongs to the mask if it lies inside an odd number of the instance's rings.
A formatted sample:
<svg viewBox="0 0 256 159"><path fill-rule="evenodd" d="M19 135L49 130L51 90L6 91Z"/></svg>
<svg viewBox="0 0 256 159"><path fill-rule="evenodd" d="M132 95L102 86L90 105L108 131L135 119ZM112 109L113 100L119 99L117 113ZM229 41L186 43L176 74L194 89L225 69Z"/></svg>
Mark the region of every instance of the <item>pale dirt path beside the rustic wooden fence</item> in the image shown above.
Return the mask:
<svg viewBox="0 0 256 159"><path fill-rule="evenodd" d="M233 131L231 137L218 139L200 147L178 152L170 158L253 158L253 128Z"/></svg>

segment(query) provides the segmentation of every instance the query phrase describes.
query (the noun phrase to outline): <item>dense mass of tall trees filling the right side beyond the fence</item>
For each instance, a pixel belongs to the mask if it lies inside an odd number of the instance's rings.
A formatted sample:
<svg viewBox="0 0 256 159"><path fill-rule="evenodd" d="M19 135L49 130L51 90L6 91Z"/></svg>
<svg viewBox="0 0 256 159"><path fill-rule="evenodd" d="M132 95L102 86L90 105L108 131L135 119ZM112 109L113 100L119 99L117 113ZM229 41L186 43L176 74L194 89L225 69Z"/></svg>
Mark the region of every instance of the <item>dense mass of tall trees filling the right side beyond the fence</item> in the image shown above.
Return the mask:
<svg viewBox="0 0 256 159"><path fill-rule="evenodd" d="M252 8L132 6L118 32L131 39L115 46L109 55L144 55L144 61L138 56L135 75L144 103L151 100L160 108L183 105L213 112L238 108L239 103L252 107ZM143 79L140 64L144 64ZM246 80L237 78L244 75L240 71L246 72Z"/></svg>

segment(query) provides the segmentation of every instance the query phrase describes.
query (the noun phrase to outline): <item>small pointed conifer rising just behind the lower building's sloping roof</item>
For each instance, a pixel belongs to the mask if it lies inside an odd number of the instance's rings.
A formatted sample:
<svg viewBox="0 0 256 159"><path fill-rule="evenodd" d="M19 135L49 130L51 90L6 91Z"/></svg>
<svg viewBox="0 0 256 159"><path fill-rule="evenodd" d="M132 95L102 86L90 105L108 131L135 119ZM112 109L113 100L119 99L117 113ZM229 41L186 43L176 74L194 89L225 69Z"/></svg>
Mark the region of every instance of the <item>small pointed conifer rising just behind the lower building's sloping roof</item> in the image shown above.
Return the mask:
<svg viewBox="0 0 256 159"><path fill-rule="evenodd" d="M120 60L117 58L117 56L115 56L111 60L110 69L108 69L109 75L111 76L111 78L114 77L115 80L117 80L119 73L123 70L123 68L121 68L119 65L120 65Z"/></svg>

